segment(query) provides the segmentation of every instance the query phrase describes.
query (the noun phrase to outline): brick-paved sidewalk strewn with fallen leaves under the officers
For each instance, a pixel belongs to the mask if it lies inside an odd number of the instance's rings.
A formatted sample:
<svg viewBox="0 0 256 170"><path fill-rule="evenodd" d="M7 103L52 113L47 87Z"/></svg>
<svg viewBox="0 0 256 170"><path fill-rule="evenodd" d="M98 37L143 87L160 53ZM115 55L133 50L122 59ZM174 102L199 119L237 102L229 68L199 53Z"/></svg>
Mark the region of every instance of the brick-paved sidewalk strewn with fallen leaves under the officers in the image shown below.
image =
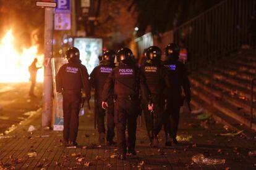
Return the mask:
<svg viewBox="0 0 256 170"><path fill-rule="evenodd" d="M41 115L34 115L8 134L9 138L0 138L0 169L256 169L256 156L249 156L249 152L256 150L255 139L245 139L240 134L221 136L232 131L211 118L200 121L198 115L188 113L186 108L179 124L181 144L165 147L162 131L160 147L152 148L148 145L145 123L142 127L138 123L137 156L118 160L115 147L97 144L92 110L80 117L78 148L62 146L59 131L27 132L30 125L40 129ZM199 153L207 158L224 159L225 163L192 163L192 156Z"/></svg>

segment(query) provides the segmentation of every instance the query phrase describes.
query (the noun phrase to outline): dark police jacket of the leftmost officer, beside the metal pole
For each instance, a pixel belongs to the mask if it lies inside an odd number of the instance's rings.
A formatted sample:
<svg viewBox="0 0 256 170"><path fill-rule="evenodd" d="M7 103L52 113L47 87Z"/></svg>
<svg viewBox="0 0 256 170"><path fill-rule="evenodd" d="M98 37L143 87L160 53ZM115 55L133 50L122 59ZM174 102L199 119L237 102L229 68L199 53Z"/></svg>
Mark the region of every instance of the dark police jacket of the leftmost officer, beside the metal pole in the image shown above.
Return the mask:
<svg viewBox="0 0 256 170"><path fill-rule="evenodd" d="M86 95L90 95L88 77L87 68L80 61L66 63L59 68L56 75L56 90L63 92L83 89Z"/></svg>

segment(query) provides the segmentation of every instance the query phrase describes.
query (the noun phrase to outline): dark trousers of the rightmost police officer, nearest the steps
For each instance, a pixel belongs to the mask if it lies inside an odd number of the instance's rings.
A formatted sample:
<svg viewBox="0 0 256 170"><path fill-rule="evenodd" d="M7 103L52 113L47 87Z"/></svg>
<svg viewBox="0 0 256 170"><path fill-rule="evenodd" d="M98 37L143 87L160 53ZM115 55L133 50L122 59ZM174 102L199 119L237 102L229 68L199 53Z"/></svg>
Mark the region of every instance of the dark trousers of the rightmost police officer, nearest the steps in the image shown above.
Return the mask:
<svg viewBox="0 0 256 170"><path fill-rule="evenodd" d="M164 111L164 131L172 138L176 138L177 136L180 108L181 103L167 99L166 110Z"/></svg>

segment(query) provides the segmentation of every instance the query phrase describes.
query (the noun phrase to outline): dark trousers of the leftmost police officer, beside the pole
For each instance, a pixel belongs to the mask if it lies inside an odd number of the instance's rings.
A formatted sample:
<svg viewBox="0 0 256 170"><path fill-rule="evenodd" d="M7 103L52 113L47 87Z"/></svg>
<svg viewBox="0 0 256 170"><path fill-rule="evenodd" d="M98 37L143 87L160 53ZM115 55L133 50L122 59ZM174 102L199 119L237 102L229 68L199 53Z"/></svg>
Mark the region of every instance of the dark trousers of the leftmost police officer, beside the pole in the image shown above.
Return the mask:
<svg viewBox="0 0 256 170"><path fill-rule="evenodd" d="M77 131L79 127L80 102L80 91L63 92L63 138L71 142L74 142L77 139Z"/></svg>

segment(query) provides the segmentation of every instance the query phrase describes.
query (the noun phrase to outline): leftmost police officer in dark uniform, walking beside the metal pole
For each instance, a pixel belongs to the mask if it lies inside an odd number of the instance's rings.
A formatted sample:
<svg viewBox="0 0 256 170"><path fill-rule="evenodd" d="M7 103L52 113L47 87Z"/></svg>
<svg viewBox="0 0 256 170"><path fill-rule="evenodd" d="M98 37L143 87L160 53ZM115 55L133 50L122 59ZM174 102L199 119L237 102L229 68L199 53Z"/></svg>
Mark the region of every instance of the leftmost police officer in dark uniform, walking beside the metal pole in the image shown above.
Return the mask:
<svg viewBox="0 0 256 170"><path fill-rule="evenodd" d="M79 59L79 49L70 47L66 57L68 63L62 65L56 75L56 90L63 94L63 143L67 145L69 142L71 146L77 147L81 90L83 89L87 99L90 99L90 84L87 68Z"/></svg>

